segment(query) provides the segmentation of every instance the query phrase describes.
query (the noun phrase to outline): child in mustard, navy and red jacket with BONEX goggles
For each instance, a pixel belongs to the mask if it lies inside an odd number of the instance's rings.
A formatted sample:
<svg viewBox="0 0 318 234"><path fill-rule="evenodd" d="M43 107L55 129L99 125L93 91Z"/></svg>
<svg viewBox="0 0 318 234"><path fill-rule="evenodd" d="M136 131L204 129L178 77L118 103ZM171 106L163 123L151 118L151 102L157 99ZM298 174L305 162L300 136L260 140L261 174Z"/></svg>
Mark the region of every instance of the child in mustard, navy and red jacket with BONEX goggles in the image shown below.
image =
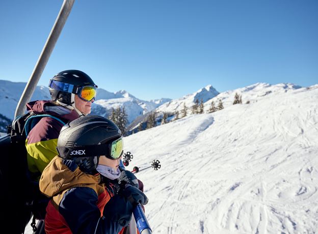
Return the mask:
<svg viewBox="0 0 318 234"><path fill-rule="evenodd" d="M51 197L46 233L124 233L134 208L148 199L134 174L119 169L119 128L84 116L62 128L57 149L40 179L41 192Z"/></svg>

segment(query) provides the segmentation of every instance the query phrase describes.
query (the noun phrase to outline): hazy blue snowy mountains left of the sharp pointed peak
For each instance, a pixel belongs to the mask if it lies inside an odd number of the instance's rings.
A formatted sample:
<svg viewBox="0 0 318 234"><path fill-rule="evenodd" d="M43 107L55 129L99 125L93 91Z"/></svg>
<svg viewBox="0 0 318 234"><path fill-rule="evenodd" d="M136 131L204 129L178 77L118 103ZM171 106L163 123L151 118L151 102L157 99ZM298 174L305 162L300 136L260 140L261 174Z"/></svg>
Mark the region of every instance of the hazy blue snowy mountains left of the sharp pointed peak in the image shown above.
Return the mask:
<svg viewBox="0 0 318 234"><path fill-rule="evenodd" d="M11 82L0 80L0 131L5 131L4 126L10 124L14 112L24 90L25 82ZM31 100L50 100L47 86L37 86ZM112 108L125 107L128 114L128 123L133 122L138 116L152 111L156 107L171 101L169 98L144 101L121 90L111 93L103 89L97 90L96 101L92 105L92 113L108 117Z"/></svg>

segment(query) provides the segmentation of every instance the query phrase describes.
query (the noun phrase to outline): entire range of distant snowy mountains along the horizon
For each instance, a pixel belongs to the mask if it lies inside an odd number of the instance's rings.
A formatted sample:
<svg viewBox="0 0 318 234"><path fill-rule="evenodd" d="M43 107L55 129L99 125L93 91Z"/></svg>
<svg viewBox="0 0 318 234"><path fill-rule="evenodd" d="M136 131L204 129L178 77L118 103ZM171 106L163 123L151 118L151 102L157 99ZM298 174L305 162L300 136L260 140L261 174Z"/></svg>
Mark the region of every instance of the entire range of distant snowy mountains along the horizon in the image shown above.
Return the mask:
<svg viewBox="0 0 318 234"><path fill-rule="evenodd" d="M15 108L20 99L26 83L11 82L0 80L0 131L4 131L3 126L7 126L13 119ZM315 85L314 85L315 86ZM196 100L203 102L204 111L206 112L211 102L217 105L219 100L222 100L224 107L232 105L235 93L242 96L243 104L249 102L257 102L260 99L266 98L269 95L277 93L286 93L291 90L300 89L301 86L291 83L255 83L246 87L241 87L236 90L230 90L219 93L212 85L207 85L202 89L183 96L179 99L171 100L162 98L158 100L144 101L129 94L127 91L121 90L116 93L111 93L103 89L97 90L96 101L92 105L91 114L97 114L108 117L111 114L112 108L125 107L128 115L128 132L137 132L140 125L145 129L148 115L150 112L156 113L157 125L161 123L164 113L168 113L168 120L174 120L174 113L181 111L184 104L188 107L188 114L191 114L191 107ZM308 87L306 89L311 89ZM37 86L36 91L31 100L49 100L50 95L48 87Z"/></svg>

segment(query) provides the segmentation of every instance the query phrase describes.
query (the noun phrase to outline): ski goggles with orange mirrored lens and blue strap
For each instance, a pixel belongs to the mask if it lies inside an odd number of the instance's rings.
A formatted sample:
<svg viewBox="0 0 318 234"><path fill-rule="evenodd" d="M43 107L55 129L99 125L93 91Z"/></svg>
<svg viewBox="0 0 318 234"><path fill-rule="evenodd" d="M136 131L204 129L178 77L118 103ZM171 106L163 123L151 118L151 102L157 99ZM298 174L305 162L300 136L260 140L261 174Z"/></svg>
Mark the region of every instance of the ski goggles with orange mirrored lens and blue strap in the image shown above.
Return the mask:
<svg viewBox="0 0 318 234"><path fill-rule="evenodd" d="M63 91L66 93L71 93L71 94L77 94L78 97L81 99L90 102L94 101L96 97L96 90L97 87L94 85L87 85L87 86L76 86L73 84L65 83L62 81L58 80L49 80L48 87L50 89L58 90L58 91Z"/></svg>

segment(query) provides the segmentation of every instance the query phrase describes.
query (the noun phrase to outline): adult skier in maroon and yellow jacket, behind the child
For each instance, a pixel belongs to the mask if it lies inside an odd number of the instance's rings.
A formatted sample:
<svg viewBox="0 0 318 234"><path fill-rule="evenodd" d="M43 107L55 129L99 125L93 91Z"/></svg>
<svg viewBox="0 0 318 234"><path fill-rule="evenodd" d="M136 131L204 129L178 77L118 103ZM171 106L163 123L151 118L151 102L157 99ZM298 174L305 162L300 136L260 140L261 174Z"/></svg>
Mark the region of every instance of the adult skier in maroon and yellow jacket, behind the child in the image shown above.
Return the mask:
<svg viewBox="0 0 318 234"><path fill-rule="evenodd" d="M51 100L32 101L26 105L30 112L49 116L41 118L36 123L25 141L31 184L24 194L27 204L19 216L23 230L31 218L31 212L32 226L35 226L36 219L44 219L48 199L39 190L38 181L41 173L58 154L57 141L64 124L91 112L96 89L97 85L86 73L65 70L49 80Z"/></svg>

